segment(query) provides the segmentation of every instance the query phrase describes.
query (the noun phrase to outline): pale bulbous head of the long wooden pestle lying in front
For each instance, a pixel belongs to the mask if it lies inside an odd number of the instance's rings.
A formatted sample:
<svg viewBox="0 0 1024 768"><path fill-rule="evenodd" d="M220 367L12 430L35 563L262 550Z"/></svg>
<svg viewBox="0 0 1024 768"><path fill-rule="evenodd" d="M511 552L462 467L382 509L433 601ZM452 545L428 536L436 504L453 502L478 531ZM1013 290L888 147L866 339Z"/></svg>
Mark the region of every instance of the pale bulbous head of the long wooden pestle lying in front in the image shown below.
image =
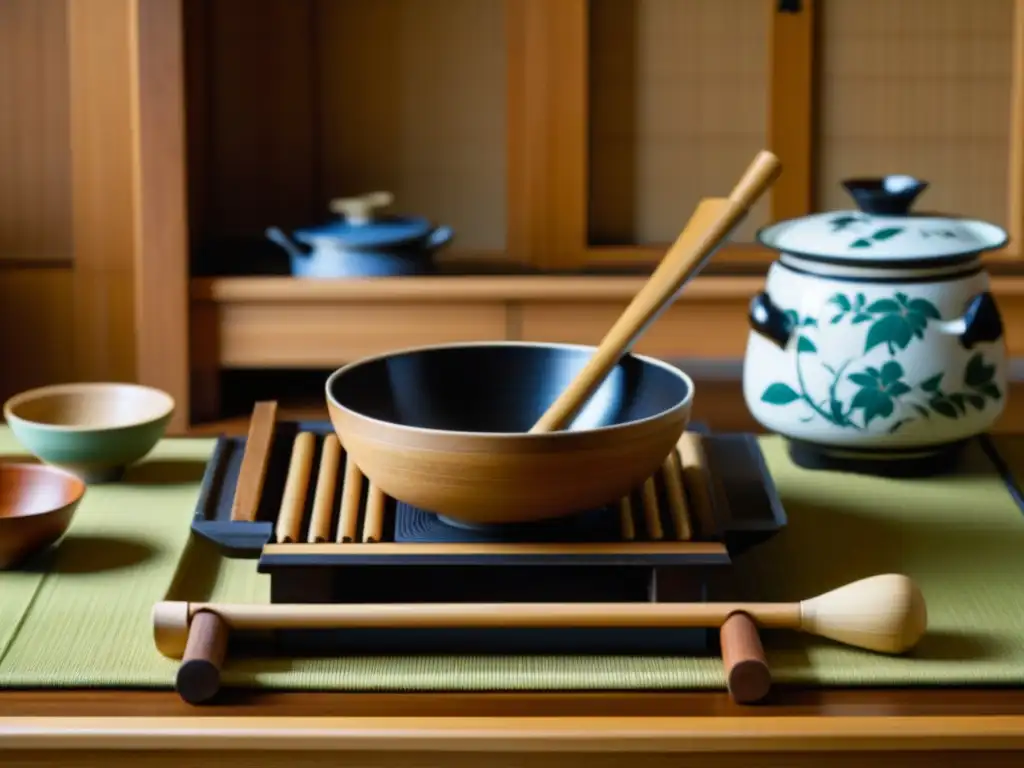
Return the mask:
<svg viewBox="0 0 1024 768"><path fill-rule="evenodd" d="M903 653L924 637L928 608L908 577L884 573L804 600L800 629L858 648Z"/></svg>

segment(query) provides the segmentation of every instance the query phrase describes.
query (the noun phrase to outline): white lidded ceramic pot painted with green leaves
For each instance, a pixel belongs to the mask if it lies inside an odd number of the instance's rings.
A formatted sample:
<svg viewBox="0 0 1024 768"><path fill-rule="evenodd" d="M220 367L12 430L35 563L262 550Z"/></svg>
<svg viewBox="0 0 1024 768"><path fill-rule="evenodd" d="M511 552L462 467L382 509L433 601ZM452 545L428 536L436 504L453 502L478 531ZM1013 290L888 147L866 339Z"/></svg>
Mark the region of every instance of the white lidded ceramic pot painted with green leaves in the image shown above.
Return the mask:
<svg viewBox="0 0 1024 768"><path fill-rule="evenodd" d="M746 406L804 466L942 466L1002 413L1002 323L981 254L1007 233L912 213L927 182L844 182L857 210L772 224L779 252L751 303ZM912 467L912 469L911 469Z"/></svg>

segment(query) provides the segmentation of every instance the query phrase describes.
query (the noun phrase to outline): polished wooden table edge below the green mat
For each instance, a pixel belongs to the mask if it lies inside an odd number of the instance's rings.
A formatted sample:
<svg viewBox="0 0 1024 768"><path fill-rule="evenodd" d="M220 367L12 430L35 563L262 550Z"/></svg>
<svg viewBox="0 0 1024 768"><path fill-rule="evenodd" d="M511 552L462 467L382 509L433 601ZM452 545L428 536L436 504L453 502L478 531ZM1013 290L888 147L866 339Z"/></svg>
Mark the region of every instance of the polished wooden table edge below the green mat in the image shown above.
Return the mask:
<svg viewBox="0 0 1024 768"><path fill-rule="evenodd" d="M779 687L757 707L724 693L232 691L193 708L171 692L5 690L0 753L4 768L1009 767L1024 765L1024 681Z"/></svg>

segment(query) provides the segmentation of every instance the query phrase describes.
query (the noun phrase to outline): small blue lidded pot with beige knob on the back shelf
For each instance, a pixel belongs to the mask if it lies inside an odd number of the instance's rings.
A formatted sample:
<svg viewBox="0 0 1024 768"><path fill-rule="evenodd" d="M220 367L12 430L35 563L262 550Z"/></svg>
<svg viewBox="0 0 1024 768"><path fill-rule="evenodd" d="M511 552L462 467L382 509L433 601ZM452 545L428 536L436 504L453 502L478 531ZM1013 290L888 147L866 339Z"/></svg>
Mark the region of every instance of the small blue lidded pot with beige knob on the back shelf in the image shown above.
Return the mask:
<svg viewBox="0 0 1024 768"><path fill-rule="evenodd" d="M390 193L331 202L343 218L296 229L291 236L271 226L266 237L288 252L297 278L386 278L429 273L433 255L447 245L451 227L435 227L422 217L385 216L378 208Z"/></svg>

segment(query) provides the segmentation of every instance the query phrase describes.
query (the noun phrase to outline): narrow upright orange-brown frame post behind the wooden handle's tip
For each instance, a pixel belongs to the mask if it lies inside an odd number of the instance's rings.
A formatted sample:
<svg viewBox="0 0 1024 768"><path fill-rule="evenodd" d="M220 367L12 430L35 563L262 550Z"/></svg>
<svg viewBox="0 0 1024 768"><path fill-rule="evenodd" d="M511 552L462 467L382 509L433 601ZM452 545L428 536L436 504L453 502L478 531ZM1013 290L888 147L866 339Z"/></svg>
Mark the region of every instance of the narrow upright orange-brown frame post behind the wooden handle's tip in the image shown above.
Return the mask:
<svg viewBox="0 0 1024 768"><path fill-rule="evenodd" d="M814 207L815 0L802 0L796 11L769 5L768 148L782 162L769 195L771 218L778 221Z"/></svg>

